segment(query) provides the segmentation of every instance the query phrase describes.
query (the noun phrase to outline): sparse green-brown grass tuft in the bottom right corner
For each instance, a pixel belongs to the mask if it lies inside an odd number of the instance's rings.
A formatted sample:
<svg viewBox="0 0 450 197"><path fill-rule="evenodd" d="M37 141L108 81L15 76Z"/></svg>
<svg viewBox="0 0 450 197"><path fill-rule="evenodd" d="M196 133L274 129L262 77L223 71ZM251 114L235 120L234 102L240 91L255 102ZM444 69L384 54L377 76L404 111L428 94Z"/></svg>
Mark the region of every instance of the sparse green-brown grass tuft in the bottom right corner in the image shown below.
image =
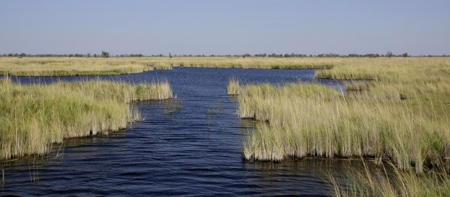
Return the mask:
<svg viewBox="0 0 450 197"><path fill-rule="evenodd" d="M401 171L396 167L349 167L348 177L328 174L333 196L449 196L450 175L433 169L426 174ZM392 163L390 163L392 165ZM393 165L392 165L393 166ZM444 172L444 173L443 173ZM341 172L341 174L344 174Z"/></svg>

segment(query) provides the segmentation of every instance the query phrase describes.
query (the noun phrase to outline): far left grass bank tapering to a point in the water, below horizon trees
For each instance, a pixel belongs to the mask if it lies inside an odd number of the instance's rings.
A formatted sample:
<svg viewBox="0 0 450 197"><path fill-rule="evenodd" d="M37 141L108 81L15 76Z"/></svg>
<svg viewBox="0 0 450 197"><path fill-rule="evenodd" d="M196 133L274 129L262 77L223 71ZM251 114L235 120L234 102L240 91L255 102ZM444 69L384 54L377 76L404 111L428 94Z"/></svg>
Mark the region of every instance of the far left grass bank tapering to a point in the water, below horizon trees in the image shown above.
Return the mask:
<svg viewBox="0 0 450 197"><path fill-rule="evenodd" d="M75 76L122 75L148 70L170 70L140 58L0 58L0 75Z"/></svg>

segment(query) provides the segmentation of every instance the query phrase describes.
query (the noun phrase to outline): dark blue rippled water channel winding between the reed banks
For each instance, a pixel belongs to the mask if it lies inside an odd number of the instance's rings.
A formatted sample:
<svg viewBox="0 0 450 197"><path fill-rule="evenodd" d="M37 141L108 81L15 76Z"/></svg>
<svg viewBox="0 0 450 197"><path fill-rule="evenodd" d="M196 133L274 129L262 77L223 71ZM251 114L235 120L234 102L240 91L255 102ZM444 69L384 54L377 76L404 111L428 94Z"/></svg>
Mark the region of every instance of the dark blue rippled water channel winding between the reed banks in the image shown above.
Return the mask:
<svg viewBox="0 0 450 197"><path fill-rule="evenodd" d="M340 172L348 161L289 159L245 162L241 139L252 122L236 116L226 95L229 77L248 83L313 82L314 70L174 68L106 80L151 82L166 79L181 109L165 113L170 101L136 103L143 122L129 129L55 145L44 158L4 163L1 195L20 196L327 196L325 172ZM94 77L13 77L21 83L86 80ZM331 80L317 81L339 88ZM207 108L221 108L207 113Z"/></svg>

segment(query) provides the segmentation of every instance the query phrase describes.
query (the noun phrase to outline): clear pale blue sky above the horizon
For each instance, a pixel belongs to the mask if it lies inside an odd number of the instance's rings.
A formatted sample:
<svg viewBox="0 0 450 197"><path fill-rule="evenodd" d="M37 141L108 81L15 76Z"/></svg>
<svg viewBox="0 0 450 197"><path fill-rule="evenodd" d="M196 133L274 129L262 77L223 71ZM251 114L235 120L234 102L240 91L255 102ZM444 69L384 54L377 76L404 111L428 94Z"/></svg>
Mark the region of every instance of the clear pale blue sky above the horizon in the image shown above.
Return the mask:
<svg viewBox="0 0 450 197"><path fill-rule="evenodd" d="M0 1L0 53L450 54L450 1Z"/></svg>

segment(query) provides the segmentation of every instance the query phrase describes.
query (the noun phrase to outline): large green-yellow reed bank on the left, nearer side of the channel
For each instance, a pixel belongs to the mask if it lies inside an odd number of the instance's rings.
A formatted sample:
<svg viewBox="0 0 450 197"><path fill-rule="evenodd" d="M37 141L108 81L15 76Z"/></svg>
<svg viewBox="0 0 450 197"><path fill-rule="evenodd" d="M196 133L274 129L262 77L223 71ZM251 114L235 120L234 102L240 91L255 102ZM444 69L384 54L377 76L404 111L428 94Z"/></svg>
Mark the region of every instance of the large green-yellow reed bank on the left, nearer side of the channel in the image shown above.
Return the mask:
<svg viewBox="0 0 450 197"><path fill-rule="evenodd" d="M46 154L69 137L108 134L140 120L131 101L172 98L167 81L21 85L0 80L0 160Z"/></svg>

